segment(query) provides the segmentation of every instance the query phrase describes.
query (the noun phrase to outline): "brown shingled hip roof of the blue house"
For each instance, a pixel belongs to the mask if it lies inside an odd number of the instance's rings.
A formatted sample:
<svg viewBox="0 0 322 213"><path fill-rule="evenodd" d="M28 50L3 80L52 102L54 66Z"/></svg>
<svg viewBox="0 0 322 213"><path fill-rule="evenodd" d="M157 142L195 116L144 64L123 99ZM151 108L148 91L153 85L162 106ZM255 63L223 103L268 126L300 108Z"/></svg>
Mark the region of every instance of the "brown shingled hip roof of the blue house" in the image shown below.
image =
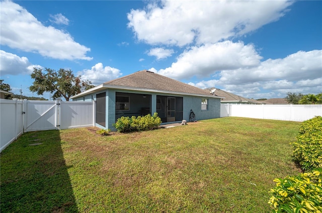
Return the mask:
<svg viewBox="0 0 322 213"><path fill-rule="evenodd" d="M104 90L107 88L214 97L209 92L198 87L194 87L147 70L142 70L118 79L114 79L112 81L105 82L71 98L77 98L79 96L92 93L93 91Z"/></svg>

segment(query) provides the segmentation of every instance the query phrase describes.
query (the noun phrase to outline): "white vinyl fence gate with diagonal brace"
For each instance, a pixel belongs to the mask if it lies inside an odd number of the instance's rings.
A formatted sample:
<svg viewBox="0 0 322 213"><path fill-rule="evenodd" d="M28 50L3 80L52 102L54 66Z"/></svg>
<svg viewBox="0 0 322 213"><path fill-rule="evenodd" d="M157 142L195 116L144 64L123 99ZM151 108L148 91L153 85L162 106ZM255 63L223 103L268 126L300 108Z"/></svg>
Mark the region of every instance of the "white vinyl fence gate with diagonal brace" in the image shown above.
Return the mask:
<svg viewBox="0 0 322 213"><path fill-rule="evenodd" d="M25 101L24 132L58 129L59 101Z"/></svg>

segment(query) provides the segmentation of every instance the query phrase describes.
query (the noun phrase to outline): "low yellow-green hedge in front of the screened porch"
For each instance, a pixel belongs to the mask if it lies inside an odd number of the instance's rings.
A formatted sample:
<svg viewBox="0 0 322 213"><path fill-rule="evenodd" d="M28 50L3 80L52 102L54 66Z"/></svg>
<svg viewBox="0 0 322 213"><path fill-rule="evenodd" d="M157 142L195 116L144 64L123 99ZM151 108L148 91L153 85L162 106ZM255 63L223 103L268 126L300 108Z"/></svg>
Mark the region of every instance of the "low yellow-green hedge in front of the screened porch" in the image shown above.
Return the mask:
<svg viewBox="0 0 322 213"><path fill-rule="evenodd" d="M157 128L161 124L161 119L155 112L153 116L147 114L145 116L132 116L121 117L117 119L117 122L113 126L119 132L133 132L133 131L145 131Z"/></svg>

